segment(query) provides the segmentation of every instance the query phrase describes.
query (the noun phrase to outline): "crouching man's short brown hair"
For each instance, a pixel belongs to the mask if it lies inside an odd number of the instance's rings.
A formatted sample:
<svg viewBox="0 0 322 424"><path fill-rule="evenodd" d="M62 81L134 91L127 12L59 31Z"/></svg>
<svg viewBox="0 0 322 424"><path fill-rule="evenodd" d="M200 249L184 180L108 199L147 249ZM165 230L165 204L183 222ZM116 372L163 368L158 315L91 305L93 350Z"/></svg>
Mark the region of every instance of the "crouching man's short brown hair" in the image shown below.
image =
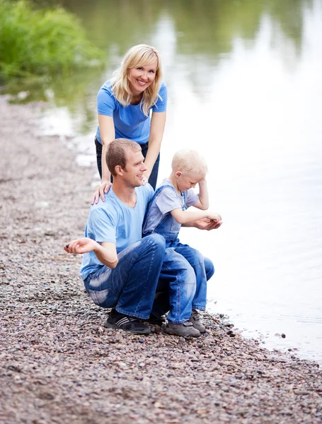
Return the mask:
<svg viewBox="0 0 322 424"><path fill-rule="evenodd" d="M130 141L127 139L116 139L110 142L108 150L106 151L106 163L110 173L115 177L115 166L120 165L125 169L127 164L127 151L131 149L134 152L138 152L141 149L139 143Z"/></svg>

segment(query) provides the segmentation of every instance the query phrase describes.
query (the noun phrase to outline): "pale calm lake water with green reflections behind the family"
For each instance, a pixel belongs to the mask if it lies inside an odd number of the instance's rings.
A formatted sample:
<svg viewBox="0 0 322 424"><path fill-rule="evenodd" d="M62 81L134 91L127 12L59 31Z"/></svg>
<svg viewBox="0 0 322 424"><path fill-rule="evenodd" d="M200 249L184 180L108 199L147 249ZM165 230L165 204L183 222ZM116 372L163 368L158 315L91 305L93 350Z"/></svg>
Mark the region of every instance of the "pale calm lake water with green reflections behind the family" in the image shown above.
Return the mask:
<svg viewBox="0 0 322 424"><path fill-rule="evenodd" d="M214 261L208 309L322 363L322 1L61 3L105 49L106 68L47 87L45 131L73 137L79 163L95 161L98 88L132 45L158 48L169 93L160 178L176 150L200 150L224 222L180 237Z"/></svg>

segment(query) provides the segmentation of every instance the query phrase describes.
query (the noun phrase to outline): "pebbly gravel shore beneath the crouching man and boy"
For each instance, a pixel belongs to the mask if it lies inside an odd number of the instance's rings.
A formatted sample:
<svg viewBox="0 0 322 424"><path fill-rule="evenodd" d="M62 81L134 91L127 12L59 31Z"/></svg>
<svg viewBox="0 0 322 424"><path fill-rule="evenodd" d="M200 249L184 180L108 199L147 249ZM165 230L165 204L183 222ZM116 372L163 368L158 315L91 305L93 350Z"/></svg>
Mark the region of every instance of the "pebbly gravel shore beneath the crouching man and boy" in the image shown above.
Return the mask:
<svg viewBox="0 0 322 424"><path fill-rule="evenodd" d="M105 329L62 245L83 233L93 168L38 136L41 105L0 98L0 423L322 423L317 363L205 314L192 340Z"/></svg>

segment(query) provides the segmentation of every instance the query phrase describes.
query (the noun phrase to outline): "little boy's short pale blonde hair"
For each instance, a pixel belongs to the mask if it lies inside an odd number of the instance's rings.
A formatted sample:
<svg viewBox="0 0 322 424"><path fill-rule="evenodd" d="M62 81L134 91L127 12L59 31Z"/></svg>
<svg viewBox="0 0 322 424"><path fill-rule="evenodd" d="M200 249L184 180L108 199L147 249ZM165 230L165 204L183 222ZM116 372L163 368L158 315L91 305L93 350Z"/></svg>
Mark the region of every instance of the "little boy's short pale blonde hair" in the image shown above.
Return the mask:
<svg viewBox="0 0 322 424"><path fill-rule="evenodd" d="M197 151L188 148L183 148L174 154L171 166L174 172L195 172L202 176L208 172L205 159Z"/></svg>

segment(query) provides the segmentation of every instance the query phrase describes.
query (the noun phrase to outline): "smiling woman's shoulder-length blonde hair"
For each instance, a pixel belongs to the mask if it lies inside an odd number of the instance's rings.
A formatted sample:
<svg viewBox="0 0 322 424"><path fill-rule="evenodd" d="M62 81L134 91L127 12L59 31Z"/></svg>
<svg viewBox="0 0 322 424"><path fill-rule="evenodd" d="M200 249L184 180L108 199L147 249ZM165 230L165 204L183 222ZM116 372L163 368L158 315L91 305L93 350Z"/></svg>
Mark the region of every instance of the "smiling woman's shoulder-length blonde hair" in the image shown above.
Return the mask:
<svg viewBox="0 0 322 424"><path fill-rule="evenodd" d="M115 98L122 106L128 106L131 103L132 92L130 90L129 69L139 68L157 61L156 76L151 86L143 92L142 112L148 117L150 108L156 104L159 98L159 90L161 86L161 58L159 52L149 45L137 45L131 47L125 53L123 60L113 73L112 89Z"/></svg>

